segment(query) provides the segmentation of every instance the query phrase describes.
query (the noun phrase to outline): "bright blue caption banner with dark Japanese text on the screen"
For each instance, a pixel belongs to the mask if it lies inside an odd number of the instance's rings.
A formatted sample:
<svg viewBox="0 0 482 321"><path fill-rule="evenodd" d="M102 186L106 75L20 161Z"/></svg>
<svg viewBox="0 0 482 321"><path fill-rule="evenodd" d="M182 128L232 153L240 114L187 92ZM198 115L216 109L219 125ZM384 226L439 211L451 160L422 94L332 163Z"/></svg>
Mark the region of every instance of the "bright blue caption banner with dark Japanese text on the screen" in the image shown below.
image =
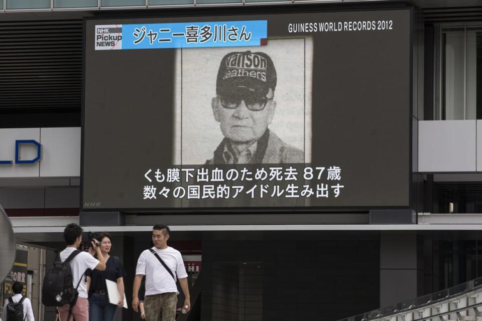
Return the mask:
<svg viewBox="0 0 482 321"><path fill-rule="evenodd" d="M122 25L122 49L260 46L266 20Z"/></svg>

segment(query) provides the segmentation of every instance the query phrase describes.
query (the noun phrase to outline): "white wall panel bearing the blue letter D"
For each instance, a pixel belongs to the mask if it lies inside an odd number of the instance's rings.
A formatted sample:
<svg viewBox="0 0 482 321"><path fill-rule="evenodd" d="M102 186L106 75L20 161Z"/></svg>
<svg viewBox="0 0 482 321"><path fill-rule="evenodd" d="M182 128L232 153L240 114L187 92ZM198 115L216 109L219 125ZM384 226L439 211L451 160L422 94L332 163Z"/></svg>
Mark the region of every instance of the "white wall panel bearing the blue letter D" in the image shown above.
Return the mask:
<svg viewBox="0 0 482 321"><path fill-rule="evenodd" d="M13 164L0 164L0 177L38 177L39 164L15 164L15 140L34 139L40 142L40 128L0 128L0 161ZM36 157L37 148L30 144L20 148L21 159Z"/></svg>

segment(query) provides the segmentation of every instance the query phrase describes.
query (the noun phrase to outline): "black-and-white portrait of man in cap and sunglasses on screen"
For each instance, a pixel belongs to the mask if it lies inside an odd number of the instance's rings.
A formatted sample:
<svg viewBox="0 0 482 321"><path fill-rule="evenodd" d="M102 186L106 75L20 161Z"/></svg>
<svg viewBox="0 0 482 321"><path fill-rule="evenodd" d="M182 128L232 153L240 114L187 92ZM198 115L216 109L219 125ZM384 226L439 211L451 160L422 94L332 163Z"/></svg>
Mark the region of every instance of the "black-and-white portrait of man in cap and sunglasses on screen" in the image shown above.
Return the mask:
<svg viewBox="0 0 482 321"><path fill-rule="evenodd" d="M310 39L179 50L174 164L311 160Z"/></svg>

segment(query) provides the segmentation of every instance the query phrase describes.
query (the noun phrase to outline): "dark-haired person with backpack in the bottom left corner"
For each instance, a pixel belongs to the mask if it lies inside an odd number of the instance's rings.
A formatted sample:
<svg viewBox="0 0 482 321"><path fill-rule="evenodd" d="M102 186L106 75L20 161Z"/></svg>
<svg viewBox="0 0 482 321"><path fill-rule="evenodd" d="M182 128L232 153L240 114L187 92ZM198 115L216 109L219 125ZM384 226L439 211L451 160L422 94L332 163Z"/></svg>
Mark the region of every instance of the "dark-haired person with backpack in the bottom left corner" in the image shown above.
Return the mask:
<svg viewBox="0 0 482 321"><path fill-rule="evenodd" d="M24 286L15 282L12 286L14 295L5 300L2 319L4 321L35 321L32 303L28 297L22 295Z"/></svg>

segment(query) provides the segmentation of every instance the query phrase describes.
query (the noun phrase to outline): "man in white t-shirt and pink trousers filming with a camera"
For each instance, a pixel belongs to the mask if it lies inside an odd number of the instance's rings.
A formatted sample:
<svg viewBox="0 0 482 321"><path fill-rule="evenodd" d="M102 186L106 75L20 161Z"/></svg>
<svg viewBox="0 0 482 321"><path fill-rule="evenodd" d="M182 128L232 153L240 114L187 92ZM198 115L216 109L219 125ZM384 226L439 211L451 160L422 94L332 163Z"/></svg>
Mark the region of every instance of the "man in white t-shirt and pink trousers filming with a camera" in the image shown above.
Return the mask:
<svg viewBox="0 0 482 321"><path fill-rule="evenodd" d="M82 228L75 223L67 225L64 229L64 240L67 243L65 250L60 252L60 260L65 261L73 251L77 250L80 244L82 244ZM98 245L97 245L98 244ZM92 254L97 253L97 258L94 258ZM72 270L72 283L76 287L79 287L77 291L79 296L75 305L72 308L72 317L75 321L89 321L89 301L87 295L87 286L85 284L85 279L81 279L87 269L97 269L100 271L105 270L105 261L100 251L100 243L97 240L92 240L92 248L89 249L89 253L80 252L71 261L70 267ZM59 307L59 314L61 321L67 320L69 313L69 304L65 304Z"/></svg>

